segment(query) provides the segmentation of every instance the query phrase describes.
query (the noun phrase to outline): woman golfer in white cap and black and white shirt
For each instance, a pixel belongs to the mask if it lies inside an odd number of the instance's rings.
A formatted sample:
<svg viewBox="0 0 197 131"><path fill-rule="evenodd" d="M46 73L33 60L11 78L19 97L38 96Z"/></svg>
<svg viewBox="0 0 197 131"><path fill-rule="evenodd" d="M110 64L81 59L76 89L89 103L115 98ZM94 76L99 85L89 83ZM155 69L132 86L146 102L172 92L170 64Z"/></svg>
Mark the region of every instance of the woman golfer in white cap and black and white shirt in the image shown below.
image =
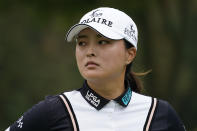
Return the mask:
<svg viewBox="0 0 197 131"><path fill-rule="evenodd" d="M140 94L130 72L138 30L127 14L94 9L68 31L73 39L82 87L47 97L7 131L185 131L168 102Z"/></svg>

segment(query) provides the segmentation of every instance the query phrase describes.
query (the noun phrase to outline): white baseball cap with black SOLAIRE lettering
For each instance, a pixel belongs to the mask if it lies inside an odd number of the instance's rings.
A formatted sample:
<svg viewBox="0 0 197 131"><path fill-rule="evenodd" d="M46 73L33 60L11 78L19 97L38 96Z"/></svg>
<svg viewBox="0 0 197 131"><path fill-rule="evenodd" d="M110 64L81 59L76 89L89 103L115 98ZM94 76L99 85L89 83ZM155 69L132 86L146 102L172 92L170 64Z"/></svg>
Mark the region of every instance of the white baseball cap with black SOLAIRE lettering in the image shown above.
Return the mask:
<svg viewBox="0 0 197 131"><path fill-rule="evenodd" d="M71 42L74 36L87 27L109 39L125 39L137 49L137 26L127 14L118 9L101 7L88 12L78 24L70 28L66 40Z"/></svg>

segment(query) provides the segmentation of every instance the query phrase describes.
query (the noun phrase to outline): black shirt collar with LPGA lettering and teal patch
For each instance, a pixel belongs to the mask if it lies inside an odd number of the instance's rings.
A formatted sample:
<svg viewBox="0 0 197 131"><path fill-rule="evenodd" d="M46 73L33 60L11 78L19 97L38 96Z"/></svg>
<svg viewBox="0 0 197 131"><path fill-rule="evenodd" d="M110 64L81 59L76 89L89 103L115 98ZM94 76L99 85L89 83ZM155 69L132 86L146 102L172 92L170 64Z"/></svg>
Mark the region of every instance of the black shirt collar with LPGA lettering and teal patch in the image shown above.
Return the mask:
<svg viewBox="0 0 197 131"><path fill-rule="evenodd" d="M127 107L132 95L131 87L127 81L125 81L125 88L126 90L124 91L124 93L116 99L114 99L114 101L116 101L123 107ZM97 94L94 90L92 90L88 86L87 81L84 82L83 87L80 89L80 92L83 98L97 110L102 109L110 101Z"/></svg>

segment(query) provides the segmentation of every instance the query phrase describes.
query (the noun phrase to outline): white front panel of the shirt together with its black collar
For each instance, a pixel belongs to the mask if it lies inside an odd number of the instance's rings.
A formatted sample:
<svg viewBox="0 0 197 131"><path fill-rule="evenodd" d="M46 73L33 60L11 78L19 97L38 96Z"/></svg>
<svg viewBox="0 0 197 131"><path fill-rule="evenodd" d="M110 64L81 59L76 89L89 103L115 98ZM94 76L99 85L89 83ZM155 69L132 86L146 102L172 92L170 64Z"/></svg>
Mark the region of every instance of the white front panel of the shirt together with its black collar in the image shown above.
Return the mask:
<svg viewBox="0 0 197 131"><path fill-rule="evenodd" d="M143 131L152 103L151 97L132 92L130 87L111 101L87 85L64 95L71 103L80 131Z"/></svg>

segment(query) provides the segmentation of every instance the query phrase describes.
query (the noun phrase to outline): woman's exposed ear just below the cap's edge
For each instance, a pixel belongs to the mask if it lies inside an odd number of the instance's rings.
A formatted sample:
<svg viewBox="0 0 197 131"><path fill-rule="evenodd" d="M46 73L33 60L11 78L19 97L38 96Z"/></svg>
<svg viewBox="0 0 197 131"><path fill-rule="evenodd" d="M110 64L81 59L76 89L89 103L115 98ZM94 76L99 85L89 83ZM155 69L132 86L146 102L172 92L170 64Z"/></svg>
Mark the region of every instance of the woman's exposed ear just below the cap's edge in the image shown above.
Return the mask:
<svg viewBox="0 0 197 131"><path fill-rule="evenodd" d="M127 65L130 64L134 60L134 58L136 56L136 51L137 50L135 47L131 47L131 48L127 49L127 58L126 58Z"/></svg>

